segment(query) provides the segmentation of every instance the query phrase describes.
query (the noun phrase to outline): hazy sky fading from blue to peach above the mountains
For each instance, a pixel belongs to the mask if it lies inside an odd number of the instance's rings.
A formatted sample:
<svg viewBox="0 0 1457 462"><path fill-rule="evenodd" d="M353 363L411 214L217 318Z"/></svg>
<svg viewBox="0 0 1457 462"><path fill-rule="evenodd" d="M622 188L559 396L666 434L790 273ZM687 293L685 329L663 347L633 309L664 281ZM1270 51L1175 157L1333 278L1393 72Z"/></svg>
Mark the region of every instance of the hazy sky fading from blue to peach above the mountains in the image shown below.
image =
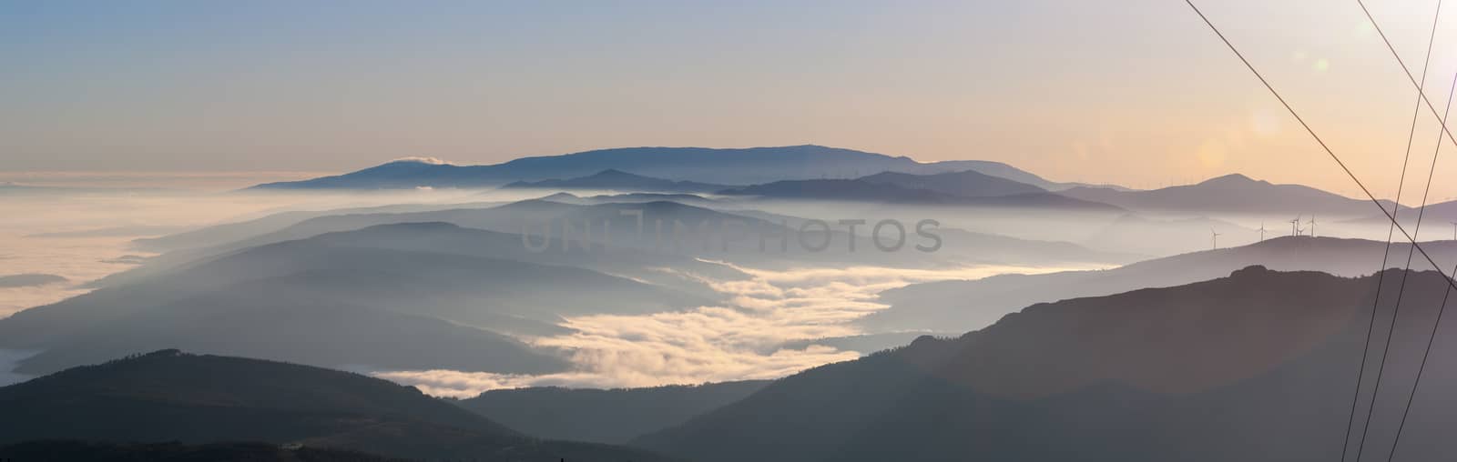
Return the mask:
<svg viewBox="0 0 1457 462"><path fill-rule="evenodd" d="M1355 0L1199 3L1394 193L1415 90ZM1419 74L1437 1L1368 4ZM1437 106L1457 71L1457 4L1444 13ZM1355 193L1182 0L0 0L0 171L823 144L1055 180L1241 171ZM1435 137L1423 109L1413 177ZM1434 196L1457 195L1441 182L1457 164L1438 169Z"/></svg>

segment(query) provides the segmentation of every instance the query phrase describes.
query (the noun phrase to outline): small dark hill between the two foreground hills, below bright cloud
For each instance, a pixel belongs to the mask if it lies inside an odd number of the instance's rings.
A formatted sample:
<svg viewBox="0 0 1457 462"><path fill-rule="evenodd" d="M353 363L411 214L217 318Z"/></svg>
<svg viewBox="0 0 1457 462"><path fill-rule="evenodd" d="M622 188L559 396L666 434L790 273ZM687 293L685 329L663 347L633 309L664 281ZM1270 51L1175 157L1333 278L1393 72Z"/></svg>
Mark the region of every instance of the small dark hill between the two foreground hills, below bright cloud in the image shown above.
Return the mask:
<svg viewBox="0 0 1457 462"><path fill-rule="evenodd" d="M742 381L624 389L495 389L457 404L530 436L622 445L769 385Z"/></svg>

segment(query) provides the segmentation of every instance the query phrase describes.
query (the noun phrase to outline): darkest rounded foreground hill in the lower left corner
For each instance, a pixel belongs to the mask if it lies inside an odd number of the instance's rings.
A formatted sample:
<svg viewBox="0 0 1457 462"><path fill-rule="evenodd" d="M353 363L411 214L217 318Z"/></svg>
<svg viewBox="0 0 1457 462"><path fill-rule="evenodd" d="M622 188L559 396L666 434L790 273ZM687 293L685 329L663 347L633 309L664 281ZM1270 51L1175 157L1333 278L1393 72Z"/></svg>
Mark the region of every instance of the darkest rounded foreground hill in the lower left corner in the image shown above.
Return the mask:
<svg viewBox="0 0 1457 462"><path fill-rule="evenodd" d="M178 350L0 388L0 414L7 416L0 418L0 443L243 440L418 459L657 459L526 437L418 389L363 375Z"/></svg>

